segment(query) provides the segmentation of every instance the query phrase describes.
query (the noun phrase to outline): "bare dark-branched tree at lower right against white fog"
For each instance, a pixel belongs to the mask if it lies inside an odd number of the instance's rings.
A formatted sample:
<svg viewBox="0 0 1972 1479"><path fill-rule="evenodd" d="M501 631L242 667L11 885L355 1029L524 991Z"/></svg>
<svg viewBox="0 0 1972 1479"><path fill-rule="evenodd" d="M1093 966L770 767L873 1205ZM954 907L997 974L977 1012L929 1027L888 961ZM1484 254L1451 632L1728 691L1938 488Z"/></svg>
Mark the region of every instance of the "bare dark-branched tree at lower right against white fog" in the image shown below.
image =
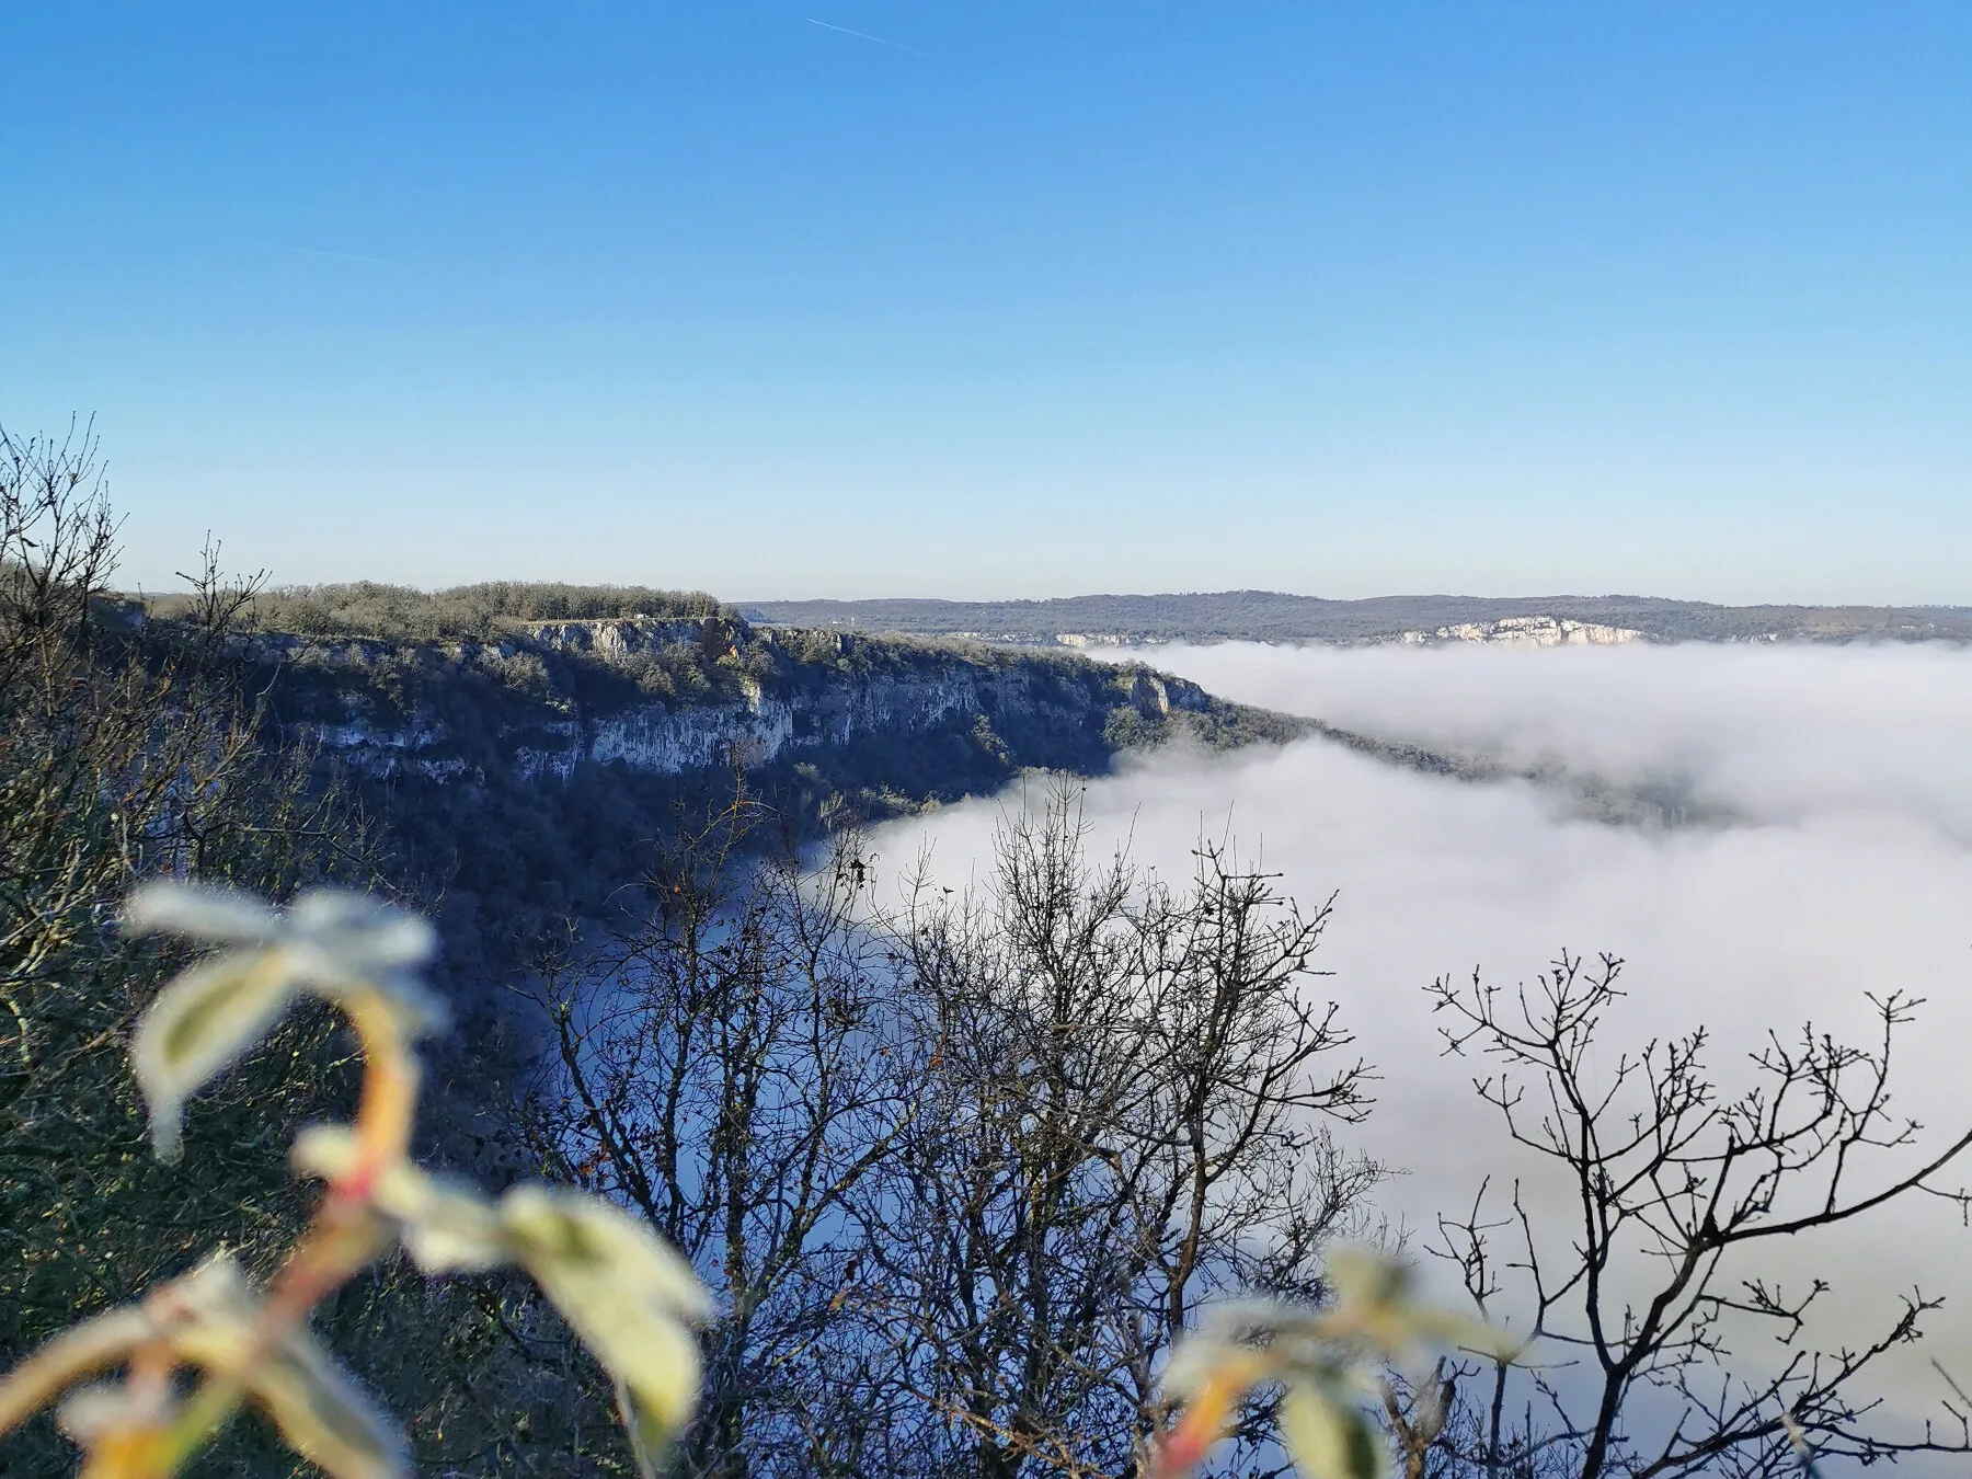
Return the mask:
<svg viewBox="0 0 1972 1479"><path fill-rule="evenodd" d="M1972 1132L1925 1150L1921 1126L1891 1112L1891 1051L1919 1002L1871 998L1879 1029L1862 1047L1812 1025L1793 1043L1769 1035L1751 1055L1753 1085L1727 1094L1706 1067L1704 1029L1597 1071L1619 972L1611 956L1562 956L1518 992L1477 972L1432 986L1451 1020L1447 1051L1499 1063L1475 1087L1514 1144L1562 1171L1574 1215L1558 1236L1514 1183L1503 1213L1483 1187L1469 1213L1440 1221L1438 1252L1483 1311L1524 1311L1544 1365L1465 1367L1445 1432L1406 1428L1400 1412L1400 1445L1420 1461L1436 1447L1444 1471L1489 1479L1779 1475L1810 1455L1972 1451L1964 1414L1946 1408L1940 1424L1899 1434L1869 1390L1881 1357L1917 1341L1940 1300L1913 1290L1864 1345L1820 1349L1808 1311L1828 1284L1783 1290L1743 1256L1911 1199L1968 1205L1940 1175ZM1733 1349L1747 1327L1781 1359Z"/></svg>

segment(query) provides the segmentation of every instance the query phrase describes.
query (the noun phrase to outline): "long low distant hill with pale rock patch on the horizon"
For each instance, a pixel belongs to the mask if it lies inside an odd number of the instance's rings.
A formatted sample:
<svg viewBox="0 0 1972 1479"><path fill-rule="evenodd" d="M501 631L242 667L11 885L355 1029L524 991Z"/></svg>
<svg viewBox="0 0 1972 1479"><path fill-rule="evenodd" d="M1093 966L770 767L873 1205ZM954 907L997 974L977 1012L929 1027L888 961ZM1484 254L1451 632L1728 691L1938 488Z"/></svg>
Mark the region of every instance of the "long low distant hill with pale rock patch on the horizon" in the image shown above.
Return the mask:
<svg viewBox="0 0 1972 1479"><path fill-rule="evenodd" d="M1049 601L751 601L753 621L1102 647L1165 641L1972 641L1968 605L1712 605L1653 596L1376 596L1236 590Z"/></svg>

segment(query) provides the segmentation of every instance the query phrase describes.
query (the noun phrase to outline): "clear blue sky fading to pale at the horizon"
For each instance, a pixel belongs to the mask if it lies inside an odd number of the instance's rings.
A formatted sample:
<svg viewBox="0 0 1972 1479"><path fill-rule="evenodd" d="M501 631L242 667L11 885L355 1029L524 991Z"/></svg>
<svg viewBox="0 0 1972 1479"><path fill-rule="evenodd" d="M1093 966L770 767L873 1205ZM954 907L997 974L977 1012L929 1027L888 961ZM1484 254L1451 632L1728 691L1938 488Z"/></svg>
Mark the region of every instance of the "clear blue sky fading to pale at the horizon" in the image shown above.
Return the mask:
<svg viewBox="0 0 1972 1479"><path fill-rule="evenodd" d="M1972 603L1972 6L12 4L124 576Z"/></svg>

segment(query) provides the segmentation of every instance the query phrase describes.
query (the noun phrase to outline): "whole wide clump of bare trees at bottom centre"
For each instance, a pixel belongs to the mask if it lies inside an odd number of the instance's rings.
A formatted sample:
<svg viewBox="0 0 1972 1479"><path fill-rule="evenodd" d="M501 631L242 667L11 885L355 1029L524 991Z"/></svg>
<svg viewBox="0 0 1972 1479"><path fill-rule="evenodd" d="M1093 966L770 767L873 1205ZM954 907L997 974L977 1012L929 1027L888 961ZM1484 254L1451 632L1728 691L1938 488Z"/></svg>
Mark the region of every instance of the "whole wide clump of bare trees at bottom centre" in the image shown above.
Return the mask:
<svg viewBox="0 0 1972 1479"><path fill-rule="evenodd" d="M536 1154L724 1302L680 1469L1130 1471L1195 1305L1319 1294L1378 1175L1321 1128L1367 1104L1302 1000L1327 907L1223 846L1187 889L1094 864L1065 791L986 887L895 909L854 838L805 876L769 822L682 830L649 919L536 994Z"/></svg>

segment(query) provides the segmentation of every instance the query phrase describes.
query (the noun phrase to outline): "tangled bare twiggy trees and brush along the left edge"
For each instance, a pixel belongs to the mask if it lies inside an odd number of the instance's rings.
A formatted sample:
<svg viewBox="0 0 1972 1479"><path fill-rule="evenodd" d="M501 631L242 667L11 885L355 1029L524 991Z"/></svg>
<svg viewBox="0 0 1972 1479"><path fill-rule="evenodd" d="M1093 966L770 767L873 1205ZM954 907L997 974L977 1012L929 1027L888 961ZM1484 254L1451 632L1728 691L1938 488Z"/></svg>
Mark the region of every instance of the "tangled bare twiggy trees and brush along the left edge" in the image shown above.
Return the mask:
<svg viewBox="0 0 1972 1479"><path fill-rule="evenodd" d="M116 538L87 428L0 430L0 1363L176 1272L215 1229L252 1256L302 1215L264 1112L325 1087L274 1061L201 1106L239 1132L197 1142L197 1177L166 1183L142 1154L124 1033L166 962L118 939L128 887L367 876L363 828L268 734L235 661L254 582L225 580L209 548L183 613L150 621L110 590Z"/></svg>

